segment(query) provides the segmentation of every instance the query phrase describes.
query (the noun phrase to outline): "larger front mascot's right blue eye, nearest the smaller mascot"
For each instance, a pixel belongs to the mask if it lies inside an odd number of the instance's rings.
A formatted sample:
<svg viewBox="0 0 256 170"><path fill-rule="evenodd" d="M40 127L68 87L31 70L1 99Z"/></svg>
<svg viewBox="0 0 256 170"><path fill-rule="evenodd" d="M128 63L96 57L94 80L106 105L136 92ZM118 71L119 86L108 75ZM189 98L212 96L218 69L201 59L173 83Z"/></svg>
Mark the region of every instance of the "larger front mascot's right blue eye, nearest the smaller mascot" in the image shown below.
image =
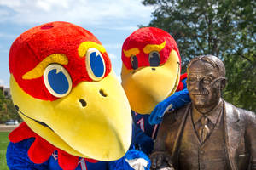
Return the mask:
<svg viewBox="0 0 256 170"><path fill-rule="evenodd" d="M94 81L104 77L106 66L102 54L96 48L89 48L86 53L86 69L88 75Z"/></svg>

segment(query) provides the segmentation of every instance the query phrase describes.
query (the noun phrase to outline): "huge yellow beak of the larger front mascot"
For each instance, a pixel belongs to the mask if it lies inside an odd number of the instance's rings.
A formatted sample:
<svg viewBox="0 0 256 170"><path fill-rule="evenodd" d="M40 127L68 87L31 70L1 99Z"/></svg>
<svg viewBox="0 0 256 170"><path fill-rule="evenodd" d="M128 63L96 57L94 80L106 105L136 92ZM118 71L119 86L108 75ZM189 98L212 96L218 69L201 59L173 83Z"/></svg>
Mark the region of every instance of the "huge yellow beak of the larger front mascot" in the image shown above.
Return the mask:
<svg viewBox="0 0 256 170"><path fill-rule="evenodd" d="M80 82L66 97L52 102L32 98L13 76L10 86L23 120L61 150L74 156L113 161L129 149L131 108L113 71L102 81Z"/></svg>

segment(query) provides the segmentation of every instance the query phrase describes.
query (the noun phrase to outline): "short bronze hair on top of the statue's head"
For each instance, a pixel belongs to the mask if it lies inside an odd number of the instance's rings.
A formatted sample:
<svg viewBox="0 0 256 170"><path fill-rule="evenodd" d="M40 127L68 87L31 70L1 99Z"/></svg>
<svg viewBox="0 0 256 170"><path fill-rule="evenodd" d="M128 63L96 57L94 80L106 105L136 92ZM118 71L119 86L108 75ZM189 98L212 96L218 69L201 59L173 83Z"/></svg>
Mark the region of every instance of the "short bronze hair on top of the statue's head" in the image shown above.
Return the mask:
<svg viewBox="0 0 256 170"><path fill-rule="evenodd" d="M225 77L225 66L224 66L224 63L218 59L218 57L215 57L213 55L201 55L201 56L197 56L195 57L194 59L191 59L190 62L189 62L189 65L188 65L188 69L189 70L189 67L194 64L195 62L197 61L203 61L203 62L206 62L210 65L213 66L213 68L217 68L218 69L218 75L220 77Z"/></svg>

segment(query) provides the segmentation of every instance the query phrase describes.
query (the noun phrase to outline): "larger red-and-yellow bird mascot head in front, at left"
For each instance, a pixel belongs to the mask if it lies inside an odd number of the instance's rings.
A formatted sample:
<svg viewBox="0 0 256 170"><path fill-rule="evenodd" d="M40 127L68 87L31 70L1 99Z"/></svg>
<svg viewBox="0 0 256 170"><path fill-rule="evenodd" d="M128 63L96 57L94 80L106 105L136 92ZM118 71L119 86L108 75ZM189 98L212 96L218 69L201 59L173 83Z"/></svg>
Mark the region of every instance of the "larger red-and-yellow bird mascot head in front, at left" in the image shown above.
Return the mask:
<svg viewBox="0 0 256 170"><path fill-rule="evenodd" d="M9 53L10 89L28 127L70 155L113 161L131 144L131 108L106 49L67 22L33 27Z"/></svg>

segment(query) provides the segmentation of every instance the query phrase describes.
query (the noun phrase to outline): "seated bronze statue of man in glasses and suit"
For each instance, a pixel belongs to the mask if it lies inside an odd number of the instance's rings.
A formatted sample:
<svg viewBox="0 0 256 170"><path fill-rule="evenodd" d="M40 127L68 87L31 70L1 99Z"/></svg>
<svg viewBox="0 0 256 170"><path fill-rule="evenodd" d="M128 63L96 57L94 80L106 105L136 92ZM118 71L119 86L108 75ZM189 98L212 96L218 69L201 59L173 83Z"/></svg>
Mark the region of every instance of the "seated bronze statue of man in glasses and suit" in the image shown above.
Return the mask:
<svg viewBox="0 0 256 170"><path fill-rule="evenodd" d="M152 169L255 170L256 116L221 98L223 62L212 55L192 59L187 86L191 103L166 113L150 156Z"/></svg>

